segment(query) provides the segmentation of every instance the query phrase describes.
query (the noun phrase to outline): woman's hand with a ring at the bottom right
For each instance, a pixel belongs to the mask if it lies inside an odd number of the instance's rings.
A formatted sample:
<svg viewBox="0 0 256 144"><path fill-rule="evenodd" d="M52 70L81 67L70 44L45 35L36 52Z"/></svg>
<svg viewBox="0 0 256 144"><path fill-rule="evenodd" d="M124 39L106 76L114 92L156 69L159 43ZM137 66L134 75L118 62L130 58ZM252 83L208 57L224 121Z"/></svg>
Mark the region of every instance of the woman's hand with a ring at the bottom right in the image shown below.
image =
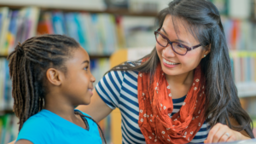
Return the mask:
<svg viewBox="0 0 256 144"><path fill-rule="evenodd" d="M227 142L227 141L241 141L250 139L247 136L241 135L240 132L231 130L227 125L216 124L209 131L207 140L205 143L217 143L217 142Z"/></svg>

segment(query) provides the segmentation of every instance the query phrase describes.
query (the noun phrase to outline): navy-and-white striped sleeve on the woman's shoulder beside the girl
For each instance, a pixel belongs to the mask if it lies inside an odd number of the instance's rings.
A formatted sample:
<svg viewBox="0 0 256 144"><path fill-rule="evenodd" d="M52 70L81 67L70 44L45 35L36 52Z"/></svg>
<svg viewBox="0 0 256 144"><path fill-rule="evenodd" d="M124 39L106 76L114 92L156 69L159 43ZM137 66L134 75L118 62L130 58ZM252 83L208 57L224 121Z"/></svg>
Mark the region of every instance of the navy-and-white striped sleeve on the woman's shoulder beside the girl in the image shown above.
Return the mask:
<svg viewBox="0 0 256 144"><path fill-rule="evenodd" d="M108 72L101 81L96 84L96 92L111 109L119 107L119 96L123 79L124 72L112 71Z"/></svg>

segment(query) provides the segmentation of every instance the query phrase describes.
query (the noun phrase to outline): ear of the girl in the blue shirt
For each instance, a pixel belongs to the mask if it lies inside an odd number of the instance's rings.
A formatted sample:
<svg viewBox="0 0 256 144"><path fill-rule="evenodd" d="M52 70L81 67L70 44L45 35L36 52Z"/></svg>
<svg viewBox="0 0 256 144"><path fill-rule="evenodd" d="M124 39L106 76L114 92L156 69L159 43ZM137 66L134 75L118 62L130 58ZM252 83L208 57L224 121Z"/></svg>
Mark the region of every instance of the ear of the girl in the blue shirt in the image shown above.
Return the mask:
<svg viewBox="0 0 256 144"><path fill-rule="evenodd" d="M56 70L55 68L49 68L46 72L46 78L48 79L50 84L54 84L55 86L61 85L63 78L63 73Z"/></svg>

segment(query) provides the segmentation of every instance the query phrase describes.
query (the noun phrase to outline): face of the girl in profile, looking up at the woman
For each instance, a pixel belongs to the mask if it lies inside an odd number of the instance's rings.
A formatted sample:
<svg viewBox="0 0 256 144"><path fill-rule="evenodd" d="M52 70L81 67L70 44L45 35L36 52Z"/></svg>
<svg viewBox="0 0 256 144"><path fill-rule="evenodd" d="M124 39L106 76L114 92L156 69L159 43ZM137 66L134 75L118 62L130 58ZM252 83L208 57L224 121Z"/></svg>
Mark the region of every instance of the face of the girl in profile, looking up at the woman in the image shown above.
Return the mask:
<svg viewBox="0 0 256 144"><path fill-rule="evenodd" d="M62 84L63 95L73 105L88 105L92 96L95 78L90 73L90 58L83 48L75 49L72 58L66 61L67 73Z"/></svg>

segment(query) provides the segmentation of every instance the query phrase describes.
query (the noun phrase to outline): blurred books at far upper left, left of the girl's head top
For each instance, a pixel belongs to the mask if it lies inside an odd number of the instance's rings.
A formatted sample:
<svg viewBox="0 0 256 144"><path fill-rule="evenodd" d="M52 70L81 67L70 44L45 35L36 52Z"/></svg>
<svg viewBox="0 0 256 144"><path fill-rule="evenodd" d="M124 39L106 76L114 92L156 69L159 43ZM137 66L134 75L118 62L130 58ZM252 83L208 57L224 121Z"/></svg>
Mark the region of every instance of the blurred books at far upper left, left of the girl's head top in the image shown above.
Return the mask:
<svg viewBox="0 0 256 144"><path fill-rule="evenodd" d="M15 44L35 36L38 26L39 9L0 9L0 55L8 55Z"/></svg>

